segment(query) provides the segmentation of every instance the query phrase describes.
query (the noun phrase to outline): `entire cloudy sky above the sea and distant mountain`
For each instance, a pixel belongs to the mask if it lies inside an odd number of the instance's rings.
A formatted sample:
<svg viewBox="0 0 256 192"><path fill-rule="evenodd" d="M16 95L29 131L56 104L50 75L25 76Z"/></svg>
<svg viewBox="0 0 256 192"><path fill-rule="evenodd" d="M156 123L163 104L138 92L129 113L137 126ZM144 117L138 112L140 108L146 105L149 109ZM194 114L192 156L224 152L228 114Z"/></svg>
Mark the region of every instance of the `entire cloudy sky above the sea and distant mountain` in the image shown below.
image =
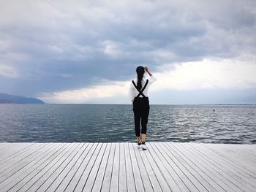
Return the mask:
<svg viewBox="0 0 256 192"><path fill-rule="evenodd" d="M0 93L46 103L256 104L254 0L0 0Z"/></svg>

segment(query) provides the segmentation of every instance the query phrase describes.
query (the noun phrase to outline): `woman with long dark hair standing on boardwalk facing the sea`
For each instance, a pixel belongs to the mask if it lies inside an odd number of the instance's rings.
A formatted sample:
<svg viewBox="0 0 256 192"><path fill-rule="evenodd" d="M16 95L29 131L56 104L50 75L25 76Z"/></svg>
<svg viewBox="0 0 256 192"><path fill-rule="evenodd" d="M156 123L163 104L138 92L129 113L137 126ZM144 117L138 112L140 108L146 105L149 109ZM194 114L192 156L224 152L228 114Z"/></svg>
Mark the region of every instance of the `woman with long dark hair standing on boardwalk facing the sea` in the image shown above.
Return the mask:
<svg viewBox="0 0 256 192"><path fill-rule="evenodd" d="M144 77L145 71L149 77ZM142 146L146 150L146 131L149 114L148 87L152 82L156 81L147 67L138 66L136 69L137 78L132 80L129 88L129 96L133 104L133 113L135 117L135 134L137 137L138 147ZM141 120L141 140L140 141L140 120Z"/></svg>

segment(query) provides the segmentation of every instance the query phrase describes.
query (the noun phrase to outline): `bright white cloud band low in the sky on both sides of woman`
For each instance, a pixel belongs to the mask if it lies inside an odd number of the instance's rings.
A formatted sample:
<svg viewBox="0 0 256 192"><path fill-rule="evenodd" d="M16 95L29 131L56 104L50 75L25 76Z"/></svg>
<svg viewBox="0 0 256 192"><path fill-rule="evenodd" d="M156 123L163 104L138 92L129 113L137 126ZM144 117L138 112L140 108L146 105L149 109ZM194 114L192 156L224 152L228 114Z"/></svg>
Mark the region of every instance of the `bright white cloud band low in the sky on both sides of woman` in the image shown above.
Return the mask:
<svg viewBox="0 0 256 192"><path fill-rule="evenodd" d="M246 60L243 60L246 59ZM187 62L165 66L165 71L156 72L151 93L167 90L194 91L214 89L246 89L256 88L255 59L204 59L203 61ZM163 68L162 68L163 69ZM105 99L123 97L128 99L130 81L103 80L99 85L88 88L42 93L40 99L49 103L85 103Z"/></svg>

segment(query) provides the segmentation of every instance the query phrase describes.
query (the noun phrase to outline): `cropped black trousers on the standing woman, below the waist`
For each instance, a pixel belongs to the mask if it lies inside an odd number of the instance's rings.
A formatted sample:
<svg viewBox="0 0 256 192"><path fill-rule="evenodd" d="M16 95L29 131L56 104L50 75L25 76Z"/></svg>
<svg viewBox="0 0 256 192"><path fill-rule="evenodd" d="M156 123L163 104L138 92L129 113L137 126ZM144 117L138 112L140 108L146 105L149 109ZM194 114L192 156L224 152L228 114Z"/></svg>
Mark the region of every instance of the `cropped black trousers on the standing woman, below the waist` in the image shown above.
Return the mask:
<svg viewBox="0 0 256 192"><path fill-rule="evenodd" d="M133 113L135 116L135 134L140 137L140 121L141 134L146 134L148 115L149 115L149 101L148 97L135 97L133 101Z"/></svg>

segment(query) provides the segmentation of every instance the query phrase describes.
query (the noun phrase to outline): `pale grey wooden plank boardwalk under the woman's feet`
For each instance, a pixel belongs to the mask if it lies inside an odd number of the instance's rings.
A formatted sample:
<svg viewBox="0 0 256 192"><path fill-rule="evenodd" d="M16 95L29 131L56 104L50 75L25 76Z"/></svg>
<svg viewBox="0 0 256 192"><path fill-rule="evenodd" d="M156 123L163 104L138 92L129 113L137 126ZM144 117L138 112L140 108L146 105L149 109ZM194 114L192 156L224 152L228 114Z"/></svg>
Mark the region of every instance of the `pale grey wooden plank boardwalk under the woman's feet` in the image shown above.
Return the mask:
<svg viewBox="0 0 256 192"><path fill-rule="evenodd" d="M256 191L256 145L0 143L0 191Z"/></svg>

